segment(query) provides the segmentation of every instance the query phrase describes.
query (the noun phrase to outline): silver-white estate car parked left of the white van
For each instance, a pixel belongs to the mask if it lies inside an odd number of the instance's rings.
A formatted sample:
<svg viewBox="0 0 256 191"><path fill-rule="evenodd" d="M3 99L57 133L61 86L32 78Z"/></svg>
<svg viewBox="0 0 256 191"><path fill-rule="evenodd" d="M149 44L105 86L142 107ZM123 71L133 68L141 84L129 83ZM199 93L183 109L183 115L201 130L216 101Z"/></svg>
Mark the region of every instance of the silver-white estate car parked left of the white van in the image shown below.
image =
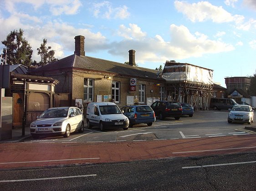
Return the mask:
<svg viewBox="0 0 256 191"><path fill-rule="evenodd" d="M34 138L52 135L69 137L71 132L83 130L83 114L76 107L48 108L30 124Z"/></svg>

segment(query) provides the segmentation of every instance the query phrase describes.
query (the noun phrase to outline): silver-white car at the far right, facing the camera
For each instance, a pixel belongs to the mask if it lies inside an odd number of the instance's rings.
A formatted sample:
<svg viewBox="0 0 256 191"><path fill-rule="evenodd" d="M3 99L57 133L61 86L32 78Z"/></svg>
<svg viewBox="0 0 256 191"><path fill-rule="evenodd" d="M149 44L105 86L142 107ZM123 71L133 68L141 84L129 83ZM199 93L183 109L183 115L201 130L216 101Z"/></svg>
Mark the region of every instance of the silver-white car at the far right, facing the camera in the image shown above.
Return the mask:
<svg viewBox="0 0 256 191"><path fill-rule="evenodd" d="M235 105L229 113L228 122L253 123L253 109L249 105Z"/></svg>

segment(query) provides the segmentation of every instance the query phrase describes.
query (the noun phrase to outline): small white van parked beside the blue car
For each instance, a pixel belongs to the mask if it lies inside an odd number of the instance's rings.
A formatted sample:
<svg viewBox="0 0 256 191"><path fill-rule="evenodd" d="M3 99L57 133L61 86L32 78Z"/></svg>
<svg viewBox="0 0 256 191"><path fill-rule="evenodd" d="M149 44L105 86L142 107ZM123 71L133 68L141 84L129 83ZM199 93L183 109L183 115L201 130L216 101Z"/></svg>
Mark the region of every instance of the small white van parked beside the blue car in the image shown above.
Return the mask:
<svg viewBox="0 0 256 191"><path fill-rule="evenodd" d="M112 102L89 103L86 118L88 128L98 126L101 131L107 128L123 128L123 130L127 130L129 126L129 119Z"/></svg>

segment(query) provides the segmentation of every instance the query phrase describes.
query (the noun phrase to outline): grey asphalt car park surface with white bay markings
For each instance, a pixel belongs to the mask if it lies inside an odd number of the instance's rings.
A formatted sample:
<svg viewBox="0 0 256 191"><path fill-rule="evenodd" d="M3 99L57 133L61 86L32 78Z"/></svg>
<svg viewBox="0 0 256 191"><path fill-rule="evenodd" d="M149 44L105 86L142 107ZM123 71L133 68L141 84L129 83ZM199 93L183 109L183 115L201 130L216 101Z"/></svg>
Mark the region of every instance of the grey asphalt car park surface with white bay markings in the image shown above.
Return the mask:
<svg viewBox="0 0 256 191"><path fill-rule="evenodd" d="M157 118L152 126L137 124L128 130L112 129L101 132L98 127L85 128L83 133L72 133L70 137L41 137L25 139L25 142L124 142L145 140L171 140L200 137L226 137L248 135L255 132L245 130L248 124L227 122L228 111L196 111L193 117L183 116L179 120ZM256 122L256 115L254 116ZM252 124L253 125L253 124ZM249 125L250 126L250 125Z"/></svg>

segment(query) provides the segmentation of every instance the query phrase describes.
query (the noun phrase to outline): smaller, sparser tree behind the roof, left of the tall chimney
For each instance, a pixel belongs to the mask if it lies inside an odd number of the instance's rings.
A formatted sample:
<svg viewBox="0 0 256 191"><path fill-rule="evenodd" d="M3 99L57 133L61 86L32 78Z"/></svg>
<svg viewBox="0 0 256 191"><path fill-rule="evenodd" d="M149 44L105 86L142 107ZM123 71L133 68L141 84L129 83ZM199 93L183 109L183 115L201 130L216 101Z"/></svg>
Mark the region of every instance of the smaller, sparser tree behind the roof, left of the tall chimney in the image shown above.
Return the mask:
<svg viewBox="0 0 256 191"><path fill-rule="evenodd" d="M47 39L43 39L43 43L39 48L37 48L37 54L41 56L41 61L37 65L44 66L51 62L55 62L58 59L54 57L55 50L51 50L51 46L46 46Z"/></svg>

